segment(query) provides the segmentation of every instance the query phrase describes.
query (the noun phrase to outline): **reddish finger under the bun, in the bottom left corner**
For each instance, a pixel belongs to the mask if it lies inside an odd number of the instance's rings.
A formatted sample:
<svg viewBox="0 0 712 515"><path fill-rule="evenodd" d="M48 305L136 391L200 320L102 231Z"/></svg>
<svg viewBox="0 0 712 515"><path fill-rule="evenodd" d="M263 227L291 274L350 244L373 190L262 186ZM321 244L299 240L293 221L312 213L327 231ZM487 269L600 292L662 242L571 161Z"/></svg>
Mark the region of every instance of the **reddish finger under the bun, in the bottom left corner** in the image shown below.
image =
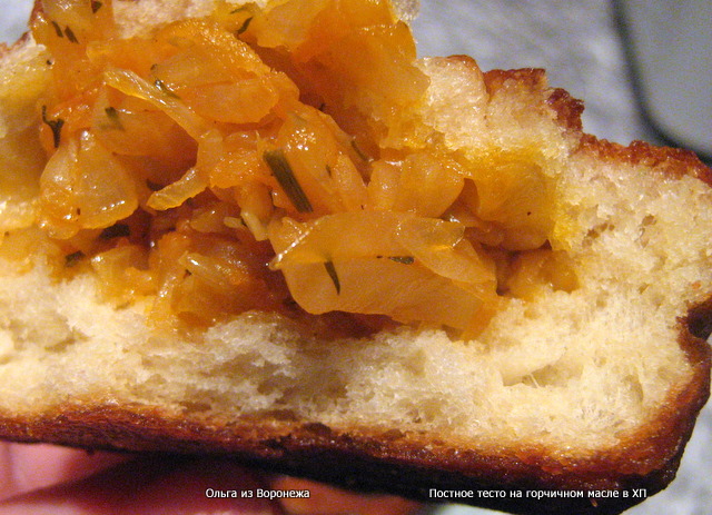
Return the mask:
<svg viewBox="0 0 712 515"><path fill-rule="evenodd" d="M228 459L151 455L12 497L0 503L0 515L283 515L269 499L240 496L260 487L258 476Z"/></svg>

